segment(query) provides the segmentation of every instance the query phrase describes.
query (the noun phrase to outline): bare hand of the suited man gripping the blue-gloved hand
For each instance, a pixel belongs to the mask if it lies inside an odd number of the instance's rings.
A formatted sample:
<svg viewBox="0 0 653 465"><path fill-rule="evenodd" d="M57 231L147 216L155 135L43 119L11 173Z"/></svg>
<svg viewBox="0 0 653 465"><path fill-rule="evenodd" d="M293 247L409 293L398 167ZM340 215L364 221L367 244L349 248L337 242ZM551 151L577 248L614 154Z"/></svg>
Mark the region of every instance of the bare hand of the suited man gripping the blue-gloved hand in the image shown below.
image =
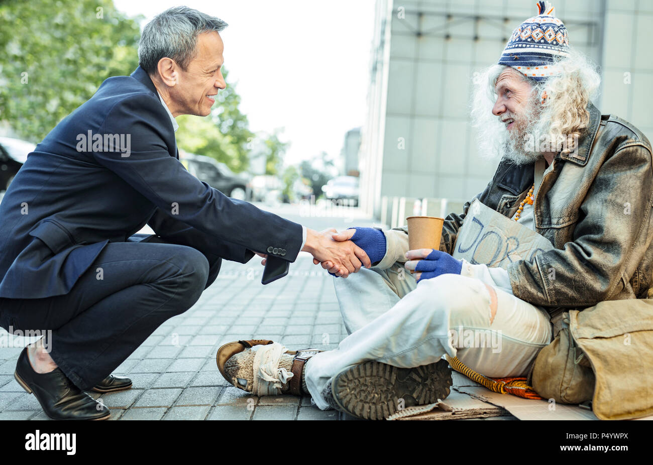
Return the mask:
<svg viewBox="0 0 653 465"><path fill-rule="evenodd" d="M361 266L370 268L372 263L367 253L351 241L338 242L331 235L335 229L327 229L318 233L313 229L306 229L306 244L302 251L313 255L313 263L328 263L329 268L336 269L338 276L346 278L349 273L355 273Z"/></svg>

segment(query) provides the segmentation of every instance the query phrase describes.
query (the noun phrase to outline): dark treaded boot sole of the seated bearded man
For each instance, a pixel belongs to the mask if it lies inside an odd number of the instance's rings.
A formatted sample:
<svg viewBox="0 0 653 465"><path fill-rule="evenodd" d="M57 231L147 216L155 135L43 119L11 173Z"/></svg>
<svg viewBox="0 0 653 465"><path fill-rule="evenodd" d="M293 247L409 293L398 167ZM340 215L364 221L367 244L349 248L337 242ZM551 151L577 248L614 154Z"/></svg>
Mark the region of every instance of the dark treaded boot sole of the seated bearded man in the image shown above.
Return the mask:
<svg viewBox="0 0 653 465"><path fill-rule="evenodd" d="M365 420L383 420L403 408L446 398L451 384L451 368L445 360L416 368L370 361L334 376L331 389L336 404L345 413Z"/></svg>

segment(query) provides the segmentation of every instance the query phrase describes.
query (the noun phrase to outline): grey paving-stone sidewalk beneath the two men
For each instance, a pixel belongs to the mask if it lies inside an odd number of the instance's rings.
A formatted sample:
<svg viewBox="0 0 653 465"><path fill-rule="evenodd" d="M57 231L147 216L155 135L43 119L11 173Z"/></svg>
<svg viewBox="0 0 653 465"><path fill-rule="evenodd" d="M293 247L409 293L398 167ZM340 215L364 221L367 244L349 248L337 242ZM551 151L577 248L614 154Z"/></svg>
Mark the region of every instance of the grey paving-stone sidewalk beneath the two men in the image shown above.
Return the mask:
<svg viewBox="0 0 653 465"><path fill-rule="evenodd" d="M341 419L310 396L257 398L231 387L217 370L225 342L267 338L289 349L332 349L346 336L332 278L301 253L289 276L261 284L263 266L224 262L215 283L187 312L169 319L115 371L133 389L95 394L112 420ZM0 348L0 420L47 419L13 377L20 347Z"/></svg>

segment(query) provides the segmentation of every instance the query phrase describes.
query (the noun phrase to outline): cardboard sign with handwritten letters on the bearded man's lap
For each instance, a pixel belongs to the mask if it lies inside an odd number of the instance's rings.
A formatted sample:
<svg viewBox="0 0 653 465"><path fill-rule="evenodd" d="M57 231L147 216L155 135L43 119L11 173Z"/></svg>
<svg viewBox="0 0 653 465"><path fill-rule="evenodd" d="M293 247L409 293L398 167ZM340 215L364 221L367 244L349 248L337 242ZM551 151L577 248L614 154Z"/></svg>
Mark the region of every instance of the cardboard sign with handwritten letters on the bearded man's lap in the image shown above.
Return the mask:
<svg viewBox="0 0 653 465"><path fill-rule="evenodd" d="M515 261L531 261L537 253L552 248L541 234L474 199L456 236L453 257L506 269Z"/></svg>

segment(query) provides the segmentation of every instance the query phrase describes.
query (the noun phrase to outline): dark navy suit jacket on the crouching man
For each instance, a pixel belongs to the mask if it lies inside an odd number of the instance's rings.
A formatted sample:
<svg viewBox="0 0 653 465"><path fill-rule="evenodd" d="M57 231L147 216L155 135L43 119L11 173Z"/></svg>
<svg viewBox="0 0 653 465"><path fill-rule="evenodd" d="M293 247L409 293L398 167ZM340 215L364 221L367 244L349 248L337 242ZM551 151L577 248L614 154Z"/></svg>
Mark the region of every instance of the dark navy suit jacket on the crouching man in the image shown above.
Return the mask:
<svg viewBox="0 0 653 465"><path fill-rule="evenodd" d="M102 136L101 148L83 146L89 131L91 140ZM129 156L105 135L122 135L125 146L129 135ZM146 223L171 242L240 263L252 251L293 262L302 244L301 225L230 199L185 170L172 121L140 67L105 80L28 155L0 221L4 298L68 293L108 242L125 242Z"/></svg>

